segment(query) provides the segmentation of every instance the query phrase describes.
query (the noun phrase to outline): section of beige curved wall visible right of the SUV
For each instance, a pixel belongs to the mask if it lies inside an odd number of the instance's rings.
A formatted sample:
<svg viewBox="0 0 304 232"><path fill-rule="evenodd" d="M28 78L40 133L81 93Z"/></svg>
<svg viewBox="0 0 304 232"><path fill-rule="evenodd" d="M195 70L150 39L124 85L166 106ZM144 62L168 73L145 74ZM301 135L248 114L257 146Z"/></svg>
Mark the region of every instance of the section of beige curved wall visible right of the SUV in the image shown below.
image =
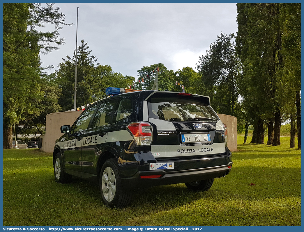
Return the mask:
<svg viewBox="0 0 304 232"><path fill-rule="evenodd" d="M227 147L231 152L237 151L237 118L227 114L217 114L220 120L227 126Z"/></svg>

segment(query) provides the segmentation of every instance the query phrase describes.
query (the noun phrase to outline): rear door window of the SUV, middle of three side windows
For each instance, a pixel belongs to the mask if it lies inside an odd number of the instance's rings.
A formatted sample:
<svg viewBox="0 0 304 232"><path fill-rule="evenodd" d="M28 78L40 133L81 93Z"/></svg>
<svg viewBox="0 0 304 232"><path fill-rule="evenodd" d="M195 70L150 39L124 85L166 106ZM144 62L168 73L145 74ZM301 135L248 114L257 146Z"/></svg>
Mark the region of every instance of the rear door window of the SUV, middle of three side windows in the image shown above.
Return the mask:
<svg viewBox="0 0 304 232"><path fill-rule="evenodd" d="M102 102L95 114L92 127L104 126L110 123L116 100Z"/></svg>

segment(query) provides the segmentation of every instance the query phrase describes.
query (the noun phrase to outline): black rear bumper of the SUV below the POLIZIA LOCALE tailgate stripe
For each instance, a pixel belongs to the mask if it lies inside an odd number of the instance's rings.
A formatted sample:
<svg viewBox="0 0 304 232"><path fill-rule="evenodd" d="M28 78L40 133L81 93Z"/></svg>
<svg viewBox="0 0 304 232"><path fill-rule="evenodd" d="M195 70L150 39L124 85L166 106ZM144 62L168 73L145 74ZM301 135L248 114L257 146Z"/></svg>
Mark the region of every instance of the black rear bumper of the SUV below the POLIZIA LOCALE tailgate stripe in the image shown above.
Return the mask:
<svg viewBox="0 0 304 232"><path fill-rule="evenodd" d="M174 169L149 170L150 163L155 162L173 162ZM120 166L120 173L125 189L141 189L150 186L188 183L222 177L230 173L232 164L231 152L226 148L226 153L209 157L161 161L140 159L140 162L129 162L126 165ZM152 175L161 176L157 178L142 178L142 176Z"/></svg>

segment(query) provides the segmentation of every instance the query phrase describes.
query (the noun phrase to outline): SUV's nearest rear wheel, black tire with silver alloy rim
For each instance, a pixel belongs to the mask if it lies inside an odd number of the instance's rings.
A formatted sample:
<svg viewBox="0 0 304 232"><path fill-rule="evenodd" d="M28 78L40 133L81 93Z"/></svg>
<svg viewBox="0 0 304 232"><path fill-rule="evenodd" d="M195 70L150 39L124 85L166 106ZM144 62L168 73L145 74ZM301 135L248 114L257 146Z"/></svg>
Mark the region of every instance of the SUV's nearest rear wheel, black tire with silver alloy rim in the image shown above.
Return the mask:
<svg viewBox="0 0 304 232"><path fill-rule="evenodd" d="M106 206L123 208L130 203L132 190L123 189L116 159L108 159L102 165L99 189Z"/></svg>

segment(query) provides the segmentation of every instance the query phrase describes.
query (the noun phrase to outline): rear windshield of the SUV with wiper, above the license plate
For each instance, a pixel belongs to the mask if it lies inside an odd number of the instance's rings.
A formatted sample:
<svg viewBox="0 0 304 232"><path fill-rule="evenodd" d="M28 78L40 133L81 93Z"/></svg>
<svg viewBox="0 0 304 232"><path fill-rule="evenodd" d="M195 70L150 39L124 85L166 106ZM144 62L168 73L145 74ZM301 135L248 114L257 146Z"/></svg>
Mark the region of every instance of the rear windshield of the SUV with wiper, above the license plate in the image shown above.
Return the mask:
<svg viewBox="0 0 304 232"><path fill-rule="evenodd" d="M154 97L149 102L149 117L167 121L218 121L209 105L178 97Z"/></svg>

